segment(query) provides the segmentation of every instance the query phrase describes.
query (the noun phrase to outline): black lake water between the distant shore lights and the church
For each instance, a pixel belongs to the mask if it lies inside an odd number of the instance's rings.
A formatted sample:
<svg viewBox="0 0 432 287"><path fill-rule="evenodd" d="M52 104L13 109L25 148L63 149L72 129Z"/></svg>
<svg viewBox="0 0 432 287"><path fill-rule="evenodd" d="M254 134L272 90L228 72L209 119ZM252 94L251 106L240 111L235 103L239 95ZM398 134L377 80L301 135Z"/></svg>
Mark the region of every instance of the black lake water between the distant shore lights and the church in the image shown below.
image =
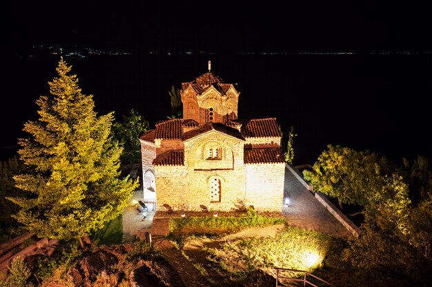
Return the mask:
<svg viewBox="0 0 432 287"><path fill-rule="evenodd" d="M135 109L154 127L170 115L171 85L212 72L237 83L239 118L276 117L284 134L294 127L294 164L313 164L328 144L370 150L400 162L431 158L431 54L146 55L66 58L99 114L117 120ZM48 95L59 58L10 59L3 78L1 160L35 101Z"/></svg>

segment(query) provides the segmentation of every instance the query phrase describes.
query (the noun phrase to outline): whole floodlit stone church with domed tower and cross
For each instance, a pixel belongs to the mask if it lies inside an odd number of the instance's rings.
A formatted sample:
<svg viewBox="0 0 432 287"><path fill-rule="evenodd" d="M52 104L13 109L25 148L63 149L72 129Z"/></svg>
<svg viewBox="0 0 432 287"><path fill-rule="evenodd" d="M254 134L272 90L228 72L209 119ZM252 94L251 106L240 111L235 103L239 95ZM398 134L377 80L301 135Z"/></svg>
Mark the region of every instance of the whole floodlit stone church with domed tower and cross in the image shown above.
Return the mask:
<svg viewBox="0 0 432 287"><path fill-rule="evenodd" d="M183 118L139 136L144 202L229 211L239 201L282 211L285 161L276 118L238 118L239 91L210 72L181 83ZM165 206L165 207L164 207Z"/></svg>

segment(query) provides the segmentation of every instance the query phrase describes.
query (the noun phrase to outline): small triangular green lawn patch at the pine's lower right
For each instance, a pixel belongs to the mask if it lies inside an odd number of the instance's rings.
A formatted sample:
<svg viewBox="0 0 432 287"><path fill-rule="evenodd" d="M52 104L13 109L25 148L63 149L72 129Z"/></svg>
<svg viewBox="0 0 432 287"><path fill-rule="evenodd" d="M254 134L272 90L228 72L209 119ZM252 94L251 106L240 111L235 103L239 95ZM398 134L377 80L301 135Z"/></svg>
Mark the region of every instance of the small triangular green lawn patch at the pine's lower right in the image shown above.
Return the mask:
<svg viewBox="0 0 432 287"><path fill-rule="evenodd" d="M91 236L95 246L121 244L123 240L123 215L107 222L104 228L99 229Z"/></svg>

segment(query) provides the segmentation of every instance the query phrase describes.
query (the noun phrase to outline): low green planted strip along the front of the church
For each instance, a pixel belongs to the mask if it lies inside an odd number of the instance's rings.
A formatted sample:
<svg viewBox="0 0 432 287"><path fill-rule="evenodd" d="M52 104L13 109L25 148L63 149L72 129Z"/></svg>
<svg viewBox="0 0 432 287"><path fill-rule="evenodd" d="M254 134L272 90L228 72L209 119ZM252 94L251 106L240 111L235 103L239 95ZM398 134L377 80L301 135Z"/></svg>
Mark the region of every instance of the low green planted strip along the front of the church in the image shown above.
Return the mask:
<svg viewBox="0 0 432 287"><path fill-rule="evenodd" d="M257 215L249 209L242 217L185 217L170 219L170 233L226 233L247 227L264 227L274 224L286 224L283 217Z"/></svg>

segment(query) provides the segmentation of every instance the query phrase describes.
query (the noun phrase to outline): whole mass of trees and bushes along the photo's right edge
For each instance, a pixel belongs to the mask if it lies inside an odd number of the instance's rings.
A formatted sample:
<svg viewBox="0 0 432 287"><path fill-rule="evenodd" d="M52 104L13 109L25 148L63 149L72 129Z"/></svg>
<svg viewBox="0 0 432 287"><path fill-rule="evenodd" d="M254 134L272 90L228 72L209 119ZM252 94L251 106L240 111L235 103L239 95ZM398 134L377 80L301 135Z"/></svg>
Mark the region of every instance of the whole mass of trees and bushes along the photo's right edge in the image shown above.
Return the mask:
<svg viewBox="0 0 432 287"><path fill-rule="evenodd" d="M374 153L329 145L313 172L305 172L314 191L364 207L360 235L350 240L344 259L413 282L432 271L431 173L426 163L419 158L409 167L405 160L400 169Z"/></svg>

